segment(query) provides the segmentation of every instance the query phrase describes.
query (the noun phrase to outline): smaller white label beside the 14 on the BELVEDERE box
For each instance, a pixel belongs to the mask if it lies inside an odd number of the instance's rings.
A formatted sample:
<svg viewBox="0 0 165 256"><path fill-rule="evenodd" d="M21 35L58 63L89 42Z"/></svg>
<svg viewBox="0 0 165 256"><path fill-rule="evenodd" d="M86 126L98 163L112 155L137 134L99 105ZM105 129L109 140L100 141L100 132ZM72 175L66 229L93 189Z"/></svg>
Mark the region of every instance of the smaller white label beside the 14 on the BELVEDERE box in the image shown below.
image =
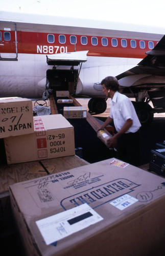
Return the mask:
<svg viewBox="0 0 165 256"><path fill-rule="evenodd" d="M115 206L116 208L120 210L124 210L125 208L131 206L138 200L134 197L131 197L128 194L123 195L122 197L116 198L112 202L110 202L111 205Z"/></svg>

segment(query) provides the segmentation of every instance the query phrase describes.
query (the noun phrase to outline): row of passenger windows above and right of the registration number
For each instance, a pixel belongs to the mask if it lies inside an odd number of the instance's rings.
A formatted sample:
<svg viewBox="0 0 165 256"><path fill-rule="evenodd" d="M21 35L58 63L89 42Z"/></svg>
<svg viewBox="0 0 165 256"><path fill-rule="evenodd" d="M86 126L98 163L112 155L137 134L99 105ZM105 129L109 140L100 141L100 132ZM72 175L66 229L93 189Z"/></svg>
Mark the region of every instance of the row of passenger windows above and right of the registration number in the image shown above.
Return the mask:
<svg viewBox="0 0 165 256"><path fill-rule="evenodd" d="M53 43L55 41L55 36L53 34L49 34L48 35L48 42ZM111 44L113 47L117 47L118 45L118 41L119 39L116 38L112 38L111 39ZM66 37L65 35L59 35L59 42L60 44L65 44L66 42ZM87 45L88 39L86 36L81 36L81 44L82 45ZM70 36L70 44L77 44L77 37L75 35L71 35ZM93 46L97 46L98 45L98 38L93 36L91 37L91 44ZM102 37L102 46L107 46L108 45L108 39L106 37ZM127 47L128 42L127 39L121 39L121 45L122 47ZM137 43L136 40L132 39L130 42L130 45L132 48L136 48ZM145 49L146 48L146 42L144 40L140 40L139 41L139 47L141 49ZM149 49L153 49L154 48L154 43L153 41L149 41L148 42L148 47Z"/></svg>

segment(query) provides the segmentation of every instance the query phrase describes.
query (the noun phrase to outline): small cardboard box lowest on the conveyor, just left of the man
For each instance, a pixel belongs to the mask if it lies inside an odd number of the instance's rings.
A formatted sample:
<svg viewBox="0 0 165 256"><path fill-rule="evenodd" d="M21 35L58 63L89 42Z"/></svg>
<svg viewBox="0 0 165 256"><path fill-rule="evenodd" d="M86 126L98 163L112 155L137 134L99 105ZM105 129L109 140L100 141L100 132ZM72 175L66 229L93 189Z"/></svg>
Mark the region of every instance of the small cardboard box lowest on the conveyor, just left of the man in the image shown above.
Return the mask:
<svg viewBox="0 0 165 256"><path fill-rule="evenodd" d="M66 119L86 118L85 106L64 106L63 116Z"/></svg>

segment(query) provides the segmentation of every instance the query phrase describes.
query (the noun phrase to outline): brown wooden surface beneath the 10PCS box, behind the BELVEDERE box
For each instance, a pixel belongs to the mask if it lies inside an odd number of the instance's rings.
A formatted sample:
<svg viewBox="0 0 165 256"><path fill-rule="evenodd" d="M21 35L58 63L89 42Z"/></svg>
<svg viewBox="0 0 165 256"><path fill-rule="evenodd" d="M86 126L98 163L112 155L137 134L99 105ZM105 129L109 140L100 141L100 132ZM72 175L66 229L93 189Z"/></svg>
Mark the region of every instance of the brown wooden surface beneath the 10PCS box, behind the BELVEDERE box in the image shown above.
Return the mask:
<svg viewBox="0 0 165 256"><path fill-rule="evenodd" d="M26 163L18 163L11 165L1 165L0 166L0 193L6 193L9 191L9 186L18 182L27 181L42 176L47 176L48 172L42 167L42 164L45 166L45 169L48 170L48 167L53 168L53 173L63 172L68 169L76 168L82 165L89 164L85 160L79 158L78 156L67 156L59 157L53 159L46 159L42 161L33 161ZM35 170L39 173L35 173Z"/></svg>

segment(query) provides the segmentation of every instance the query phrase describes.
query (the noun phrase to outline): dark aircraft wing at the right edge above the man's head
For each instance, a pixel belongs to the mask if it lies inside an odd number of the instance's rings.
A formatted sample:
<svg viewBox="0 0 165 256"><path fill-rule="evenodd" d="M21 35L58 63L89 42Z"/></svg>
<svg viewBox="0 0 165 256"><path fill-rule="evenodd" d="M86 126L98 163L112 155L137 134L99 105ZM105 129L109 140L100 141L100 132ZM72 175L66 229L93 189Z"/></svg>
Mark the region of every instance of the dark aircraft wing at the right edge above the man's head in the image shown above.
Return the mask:
<svg viewBox="0 0 165 256"><path fill-rule="evenodd" d="M117 75L117 80L126 76L140 74L165 76L165 35L160 39L154 49L146 52L146 54L147 56L136 67Z"/></svg>

